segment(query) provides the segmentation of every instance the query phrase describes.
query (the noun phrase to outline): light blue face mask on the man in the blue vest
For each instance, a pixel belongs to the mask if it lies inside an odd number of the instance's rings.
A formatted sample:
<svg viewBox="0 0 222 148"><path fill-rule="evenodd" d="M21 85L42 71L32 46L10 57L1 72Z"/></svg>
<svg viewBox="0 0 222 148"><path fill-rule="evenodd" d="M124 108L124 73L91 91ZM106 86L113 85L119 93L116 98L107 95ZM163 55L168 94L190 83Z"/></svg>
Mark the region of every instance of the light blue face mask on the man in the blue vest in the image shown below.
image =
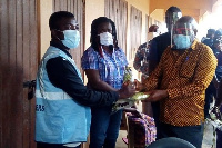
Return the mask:
<svg viewBox="0 0 222 148"><path fill-rule="evenodd" d="M74 49L79 46L80 42L80 32L78 30L64 30L64 40L61 40L62 43L69 49Z"/></svg>

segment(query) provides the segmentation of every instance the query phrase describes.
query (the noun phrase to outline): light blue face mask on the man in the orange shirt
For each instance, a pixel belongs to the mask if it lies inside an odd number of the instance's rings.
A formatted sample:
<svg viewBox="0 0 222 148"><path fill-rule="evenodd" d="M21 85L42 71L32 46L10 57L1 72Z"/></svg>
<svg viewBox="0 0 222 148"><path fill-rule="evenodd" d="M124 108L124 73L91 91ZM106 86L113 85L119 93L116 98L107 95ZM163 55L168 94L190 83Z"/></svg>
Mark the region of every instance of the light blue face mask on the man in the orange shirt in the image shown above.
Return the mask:
<svg viewBox="0 0 222 148"><path fill-rule="evenodd" d="M173 34L173 42L176 46L176 49L188 49L191 47L190 36Z"/></svg>

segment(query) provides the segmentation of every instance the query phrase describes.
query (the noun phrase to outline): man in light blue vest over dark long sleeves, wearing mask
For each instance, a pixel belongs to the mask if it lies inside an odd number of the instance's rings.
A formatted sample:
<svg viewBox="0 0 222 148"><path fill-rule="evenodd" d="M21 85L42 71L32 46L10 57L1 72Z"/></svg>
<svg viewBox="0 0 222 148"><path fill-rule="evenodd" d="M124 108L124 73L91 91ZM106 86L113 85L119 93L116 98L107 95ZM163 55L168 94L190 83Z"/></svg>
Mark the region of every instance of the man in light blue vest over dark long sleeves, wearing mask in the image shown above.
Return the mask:
<svg viewBox="0 0 222 148"><path fill-rule="evenodd" d="M49 19L51 42L37 75L36 141L38 148L80 148L87 141L93 106L111 106L134 93L131 87L95 91L83 85L69 50L80 41L79 24L67 11Z"/></svg>

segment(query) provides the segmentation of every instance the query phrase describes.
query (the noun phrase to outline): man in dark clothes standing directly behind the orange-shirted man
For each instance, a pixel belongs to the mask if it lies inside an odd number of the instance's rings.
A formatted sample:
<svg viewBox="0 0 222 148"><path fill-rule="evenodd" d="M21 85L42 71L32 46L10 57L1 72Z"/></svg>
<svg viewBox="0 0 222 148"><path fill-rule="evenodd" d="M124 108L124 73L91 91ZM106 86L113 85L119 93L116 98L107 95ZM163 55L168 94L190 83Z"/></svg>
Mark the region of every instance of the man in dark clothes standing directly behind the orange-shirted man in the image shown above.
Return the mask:
<svg viewBox="0 0 222 148"><path fill-rule="evenodd" d="M170 7L165 12L165 23L168 32L160 34L152 39L150 45L149 57L149 73L151 73L158 66L163 51L171 45L171 29L175 21L182 17L181 10L176 7ZM159 102L152 102L153 118L157 125L157 138L159 139Z"/></svg>

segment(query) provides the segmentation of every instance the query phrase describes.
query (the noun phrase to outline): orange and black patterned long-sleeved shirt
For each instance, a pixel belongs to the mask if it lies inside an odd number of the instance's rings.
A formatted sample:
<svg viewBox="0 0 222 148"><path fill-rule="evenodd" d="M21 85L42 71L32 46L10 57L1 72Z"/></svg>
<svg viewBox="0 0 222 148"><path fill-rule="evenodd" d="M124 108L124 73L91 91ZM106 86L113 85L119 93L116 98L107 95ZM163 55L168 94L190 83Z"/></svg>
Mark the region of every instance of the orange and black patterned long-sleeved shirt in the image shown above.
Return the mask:
<svg viewBox="0 0 222 148"><path fill-rule="evenodd" d="M143 82L145 91L168 90L169 97L160 101L160 121L173 126L204 121L205 89L216 63L212 50L196 40L182 55L170 47L165 49L158 67Z"/></svg>

